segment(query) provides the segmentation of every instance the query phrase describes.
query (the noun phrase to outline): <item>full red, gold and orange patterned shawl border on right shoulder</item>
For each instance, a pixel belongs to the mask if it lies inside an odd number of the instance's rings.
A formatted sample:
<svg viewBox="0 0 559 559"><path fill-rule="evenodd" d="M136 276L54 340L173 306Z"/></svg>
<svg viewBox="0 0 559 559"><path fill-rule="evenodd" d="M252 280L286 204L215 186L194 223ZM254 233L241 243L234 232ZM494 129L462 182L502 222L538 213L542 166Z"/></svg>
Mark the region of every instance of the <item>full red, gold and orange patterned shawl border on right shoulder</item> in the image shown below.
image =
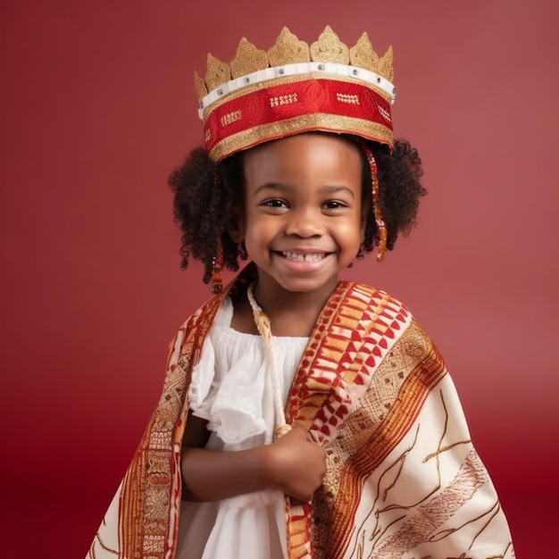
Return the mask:
<svg viewBox="0 0 559 559"><path fill-rule="evenodd" d="M313 504L287 499L290 559L343 555L364 479L445 373L403 305L374 288L338 284L288 398L288 422L312 430L328 454Z"/></svg>

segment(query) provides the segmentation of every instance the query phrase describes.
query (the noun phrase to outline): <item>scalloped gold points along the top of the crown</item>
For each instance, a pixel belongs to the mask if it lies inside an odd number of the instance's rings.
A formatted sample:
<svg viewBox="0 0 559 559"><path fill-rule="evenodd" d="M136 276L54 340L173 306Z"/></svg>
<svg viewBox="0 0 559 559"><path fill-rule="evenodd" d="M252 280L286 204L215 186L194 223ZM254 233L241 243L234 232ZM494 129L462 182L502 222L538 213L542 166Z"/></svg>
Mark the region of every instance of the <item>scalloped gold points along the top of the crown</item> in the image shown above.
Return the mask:
<svg viewBox="0 0 559 559"><path fill-rule="evenodd" d="M366 32L363 32L355 46L349 48L339 40L330 25L327 25L318 40L309 47L305 41L299 40L287 27L284 27L275 44L268 51L257 48L243 37L230 63L221 62L212 54L208 54L204 79L197 71L194 72L196 95L198 101L202 103L204 97L213 89L219 88L231 79L242 78L266 68L310 62L346 64L379 74L389 82L394 79L392 46L388 46L386 53L379 56L372 48Z"/></svg>

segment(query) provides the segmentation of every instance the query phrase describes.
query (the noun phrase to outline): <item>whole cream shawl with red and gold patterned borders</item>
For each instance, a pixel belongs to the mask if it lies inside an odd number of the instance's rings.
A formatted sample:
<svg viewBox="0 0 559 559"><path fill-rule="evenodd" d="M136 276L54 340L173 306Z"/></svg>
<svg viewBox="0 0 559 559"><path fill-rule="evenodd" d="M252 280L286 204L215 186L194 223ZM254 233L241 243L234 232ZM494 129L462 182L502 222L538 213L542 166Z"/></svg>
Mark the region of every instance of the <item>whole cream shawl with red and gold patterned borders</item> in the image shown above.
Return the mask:
<svg viewBox="0 0 559 559"><path fill-rule="evenodd" d="M229 290L253 275L247 266L172 341L163 394L89 558L175 556L191 373ZM386 293L338 283L296 371L286 416L327 451L313 502L286 497L290 559L514 556L445 363Z"/></svg>

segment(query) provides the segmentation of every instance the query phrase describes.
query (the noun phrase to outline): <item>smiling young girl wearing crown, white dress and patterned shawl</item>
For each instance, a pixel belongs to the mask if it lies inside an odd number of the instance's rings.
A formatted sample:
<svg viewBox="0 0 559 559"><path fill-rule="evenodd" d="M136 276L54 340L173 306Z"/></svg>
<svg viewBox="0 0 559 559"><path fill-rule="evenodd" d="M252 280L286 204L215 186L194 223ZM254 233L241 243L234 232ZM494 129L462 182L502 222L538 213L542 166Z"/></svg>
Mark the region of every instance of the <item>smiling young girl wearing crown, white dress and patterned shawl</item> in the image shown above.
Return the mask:
<svg viewBox="0 0 559 559"><path fill-rule="evenodd" d="M392 133L391 51L283 29L208 65L206 146L170 184L183 267L216 295L171 344L89 556L513 557L437 349L396 299L338 280L425 194Z"/></svg>

